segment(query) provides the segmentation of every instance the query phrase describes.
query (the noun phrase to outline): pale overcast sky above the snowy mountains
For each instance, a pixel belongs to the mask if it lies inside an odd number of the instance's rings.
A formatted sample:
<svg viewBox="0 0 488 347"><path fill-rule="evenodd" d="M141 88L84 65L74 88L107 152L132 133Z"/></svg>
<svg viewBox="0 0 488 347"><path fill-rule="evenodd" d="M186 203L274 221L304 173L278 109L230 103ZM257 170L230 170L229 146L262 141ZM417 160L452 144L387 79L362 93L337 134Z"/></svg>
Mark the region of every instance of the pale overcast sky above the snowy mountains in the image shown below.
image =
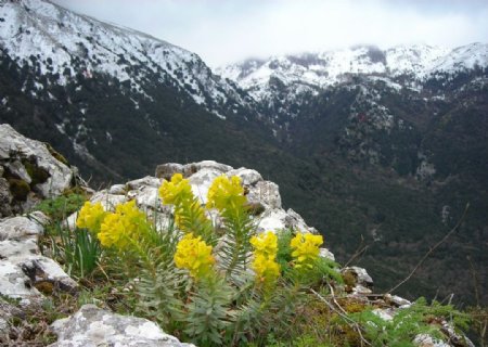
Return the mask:
<svg viewBox="0 0 488 347"><path fill-rule="evenodd" d="M488 41L488 0L53 0L201 55L246 57L355 44Z"/></svg>

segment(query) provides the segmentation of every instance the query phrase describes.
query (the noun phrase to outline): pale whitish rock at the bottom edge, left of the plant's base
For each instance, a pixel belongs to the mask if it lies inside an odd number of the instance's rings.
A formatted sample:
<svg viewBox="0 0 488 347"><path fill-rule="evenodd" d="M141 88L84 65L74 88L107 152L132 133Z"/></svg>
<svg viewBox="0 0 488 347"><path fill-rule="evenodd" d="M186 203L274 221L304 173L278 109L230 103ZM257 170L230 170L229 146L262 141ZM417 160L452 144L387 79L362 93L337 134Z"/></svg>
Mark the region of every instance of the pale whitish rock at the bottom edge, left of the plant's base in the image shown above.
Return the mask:
<svg viewBox="0 0 488 347"><path fill-rule="evenodd" d="M115 314L94 305L82 306L72 317L52 323L51 327L59 337L51 347L193 346L180 343L146 319Z"/></svg>

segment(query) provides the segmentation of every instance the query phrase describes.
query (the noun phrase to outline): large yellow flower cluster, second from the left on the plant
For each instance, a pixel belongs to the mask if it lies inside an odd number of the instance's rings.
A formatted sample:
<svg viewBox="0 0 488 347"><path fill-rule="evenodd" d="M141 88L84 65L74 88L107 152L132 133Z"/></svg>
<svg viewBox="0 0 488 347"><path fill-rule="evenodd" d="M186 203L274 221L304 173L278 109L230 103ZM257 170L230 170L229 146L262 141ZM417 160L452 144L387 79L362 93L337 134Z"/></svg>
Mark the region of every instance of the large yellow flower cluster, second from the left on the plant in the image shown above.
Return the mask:
<svg viewBox="0 0 488 347"><path fill-rule="evenodd" d="M147 228L144 213L134 201L117 205L115 213L107 214L102 222L98 237L105 247L116 246L124 249L130 237L138 237Z"/></svg>

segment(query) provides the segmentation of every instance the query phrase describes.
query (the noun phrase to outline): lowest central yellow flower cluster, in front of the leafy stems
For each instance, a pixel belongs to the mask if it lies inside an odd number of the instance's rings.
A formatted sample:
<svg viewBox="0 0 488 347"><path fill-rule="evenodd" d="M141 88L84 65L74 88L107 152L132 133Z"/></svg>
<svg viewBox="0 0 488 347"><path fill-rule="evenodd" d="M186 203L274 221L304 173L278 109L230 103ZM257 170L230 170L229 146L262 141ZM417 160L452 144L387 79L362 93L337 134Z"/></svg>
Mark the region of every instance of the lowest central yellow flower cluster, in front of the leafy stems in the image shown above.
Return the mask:
<svg viewBox="0 0 488 347"><path fill-rule="evenodd" d="M193 233L188 233L180 240L174 259L178 268L189 270L195 279L205 278L215 264L211 246L202 241L201 236L194 237Z"/></svg>

